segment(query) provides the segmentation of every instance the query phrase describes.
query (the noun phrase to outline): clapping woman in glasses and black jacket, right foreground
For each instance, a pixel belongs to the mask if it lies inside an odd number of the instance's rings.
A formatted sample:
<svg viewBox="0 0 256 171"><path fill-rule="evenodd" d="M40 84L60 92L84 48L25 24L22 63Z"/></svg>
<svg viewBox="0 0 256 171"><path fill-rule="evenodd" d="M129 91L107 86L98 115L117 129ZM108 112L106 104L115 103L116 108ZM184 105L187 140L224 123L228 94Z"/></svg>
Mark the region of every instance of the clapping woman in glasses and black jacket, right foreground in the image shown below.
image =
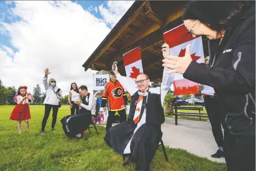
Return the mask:
<svg viewBox="0 0 256 171"><path fill-rule="evenodd" d="M188 33L209 39L211 67L191 59L190 45L185 57L168 56L163 66L214 87L227 170L255 170L255 1L191 1L182 18Z"/></svg>

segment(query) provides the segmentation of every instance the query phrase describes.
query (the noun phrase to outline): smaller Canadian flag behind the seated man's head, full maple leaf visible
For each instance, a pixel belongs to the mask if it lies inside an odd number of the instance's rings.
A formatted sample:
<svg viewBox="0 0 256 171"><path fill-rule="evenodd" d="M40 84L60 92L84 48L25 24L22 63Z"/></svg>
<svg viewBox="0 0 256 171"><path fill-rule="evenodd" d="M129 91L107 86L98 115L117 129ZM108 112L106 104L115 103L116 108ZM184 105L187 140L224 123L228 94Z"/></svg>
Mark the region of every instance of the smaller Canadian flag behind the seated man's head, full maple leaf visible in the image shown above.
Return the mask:
<svg viewBox="0 0 256 171"><path fill-rule="evenodd" d="M135 84L135 80L137 76L143 72L140 46L123 54L123 58L124 58L124 67L125 67L126 76L128 78L128 82L131 85L134 85L137 87L137 85Z"/></svg>

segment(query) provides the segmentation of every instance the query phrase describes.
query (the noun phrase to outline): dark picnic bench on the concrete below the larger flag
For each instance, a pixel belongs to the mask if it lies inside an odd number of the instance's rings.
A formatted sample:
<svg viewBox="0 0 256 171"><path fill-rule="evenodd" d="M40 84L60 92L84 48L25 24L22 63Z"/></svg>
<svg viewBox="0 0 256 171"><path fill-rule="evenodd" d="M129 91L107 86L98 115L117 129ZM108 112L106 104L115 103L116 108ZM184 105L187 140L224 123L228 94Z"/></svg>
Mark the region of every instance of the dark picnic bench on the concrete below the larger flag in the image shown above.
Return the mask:
<svg viewBox="0 0 256 171"><path fill-rule="evenodd" d="M167 113L168 115L175 115L175 124L178 125L178 115L180 115L182 118L191 118L191 116L196 116L199 117L199 119L201 120L201 117L204 116L201 114L201 111L204 110L203 105L201 105L200 107L195 107L195 105L185 105L181 107L181 105L173 105L174 107L174 113ZM198 111L198 113L195 112L178 112L178 110L194 110L194 111Z"/></svg>

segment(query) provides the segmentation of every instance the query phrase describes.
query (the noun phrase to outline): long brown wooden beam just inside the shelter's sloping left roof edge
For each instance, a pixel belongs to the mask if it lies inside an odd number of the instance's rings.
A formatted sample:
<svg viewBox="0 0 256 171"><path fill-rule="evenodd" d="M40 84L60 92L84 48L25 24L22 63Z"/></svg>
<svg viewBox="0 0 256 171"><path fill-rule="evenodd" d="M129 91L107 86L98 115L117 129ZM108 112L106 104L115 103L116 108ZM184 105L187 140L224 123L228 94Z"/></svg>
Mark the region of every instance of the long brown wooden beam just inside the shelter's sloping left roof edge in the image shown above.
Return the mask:
<svg viewBox="0 0 256 171"><path fill-rule="evenodd" d="M96 61L104 52L105 50L112 44L114 43L114 41L123 33L123 31L125 29L127 29L127 27L134 21L136 20L136 17L142 12L143 7L145 6L146 2L143 2L141 4L141 6L133 13L133 15L131 17L129 17L128 21L123 25L123 27L118 30L118 34L115 34L114 37L112 39L110 39L110 41L105 45L105 47L103 49L101 49L101 52L97 54L97 56L95 57L95 59L93 61Z"/></svg>

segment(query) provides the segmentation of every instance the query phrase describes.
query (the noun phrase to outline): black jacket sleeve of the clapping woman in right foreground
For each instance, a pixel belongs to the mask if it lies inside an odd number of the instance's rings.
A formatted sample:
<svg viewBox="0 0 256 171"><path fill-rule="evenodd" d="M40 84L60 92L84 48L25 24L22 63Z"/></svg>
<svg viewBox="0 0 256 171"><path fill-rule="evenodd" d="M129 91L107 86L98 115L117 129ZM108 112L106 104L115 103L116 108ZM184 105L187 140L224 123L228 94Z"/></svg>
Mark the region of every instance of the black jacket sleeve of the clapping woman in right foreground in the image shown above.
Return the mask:
<svg viewBox="0 0 256 171"><path fill-rule="evenodd" d="M255 24L237 42L230 68L208 68L192 61L183 77L218 90L249 93L255 89Z"/></svg>

